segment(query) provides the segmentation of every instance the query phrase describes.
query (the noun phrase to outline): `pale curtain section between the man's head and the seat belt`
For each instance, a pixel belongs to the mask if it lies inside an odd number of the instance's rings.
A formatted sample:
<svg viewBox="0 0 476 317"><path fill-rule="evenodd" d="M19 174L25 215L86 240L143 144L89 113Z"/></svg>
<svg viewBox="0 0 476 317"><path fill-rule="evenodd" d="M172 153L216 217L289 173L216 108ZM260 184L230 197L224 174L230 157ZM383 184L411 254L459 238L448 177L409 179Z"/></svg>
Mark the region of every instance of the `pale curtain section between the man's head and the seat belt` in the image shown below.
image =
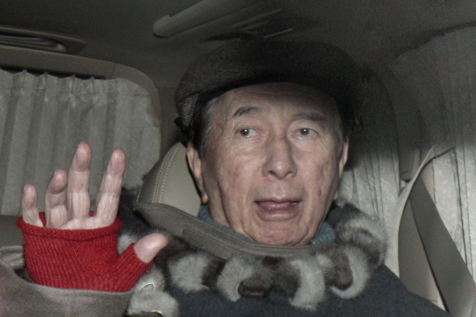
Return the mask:
<svg viewBox="0 0 476 317"><path fill-rule="evenodd" d="M339 187L339 204L349 202L374 216L389 233L386 264L398 274L398 140L395 114L381 82L370 76L358 89L357 128L350 135L350 157Z"/></svg>

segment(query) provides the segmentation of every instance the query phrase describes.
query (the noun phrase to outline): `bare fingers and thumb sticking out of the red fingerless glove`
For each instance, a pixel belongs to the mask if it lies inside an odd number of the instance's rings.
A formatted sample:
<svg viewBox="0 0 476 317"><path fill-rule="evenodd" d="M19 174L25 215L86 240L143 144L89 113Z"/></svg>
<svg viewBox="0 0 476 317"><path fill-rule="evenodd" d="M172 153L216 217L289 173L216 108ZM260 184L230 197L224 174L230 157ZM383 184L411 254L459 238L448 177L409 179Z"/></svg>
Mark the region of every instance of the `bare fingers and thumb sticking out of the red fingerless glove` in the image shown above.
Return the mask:
<svg viewBox="0 0 476 317"><path fill-rule="evenodd" d="M111 225L117 216L120 189L125 172L126 158L122 150L111 155L97 197L96 211L90 216L89 166L91 148L80 143L71 161L69 173L57 170L51 178L45 194L46 227L57 229L95 229ZM24 187L22 219L36 226L43 226L39 217L38 193L33 185ZM149 263L167 244L167 239L154 233L134 245L137 257Z"/></svg>

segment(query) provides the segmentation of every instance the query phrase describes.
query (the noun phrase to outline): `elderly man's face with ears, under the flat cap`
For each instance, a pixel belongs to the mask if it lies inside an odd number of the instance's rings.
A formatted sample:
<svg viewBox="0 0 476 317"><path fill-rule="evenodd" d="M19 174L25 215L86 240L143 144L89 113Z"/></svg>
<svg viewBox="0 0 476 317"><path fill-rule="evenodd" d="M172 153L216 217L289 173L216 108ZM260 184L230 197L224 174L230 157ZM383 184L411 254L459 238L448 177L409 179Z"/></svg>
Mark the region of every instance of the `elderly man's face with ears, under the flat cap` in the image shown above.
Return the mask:
<svg viewBox="0 0 476 317"><path fill-rule="evenodd" d="M304 245L319 230L347 160L337 106L297 84L237 88L222 95L206 151L187 157L219 223L255 241Z"/></svg>

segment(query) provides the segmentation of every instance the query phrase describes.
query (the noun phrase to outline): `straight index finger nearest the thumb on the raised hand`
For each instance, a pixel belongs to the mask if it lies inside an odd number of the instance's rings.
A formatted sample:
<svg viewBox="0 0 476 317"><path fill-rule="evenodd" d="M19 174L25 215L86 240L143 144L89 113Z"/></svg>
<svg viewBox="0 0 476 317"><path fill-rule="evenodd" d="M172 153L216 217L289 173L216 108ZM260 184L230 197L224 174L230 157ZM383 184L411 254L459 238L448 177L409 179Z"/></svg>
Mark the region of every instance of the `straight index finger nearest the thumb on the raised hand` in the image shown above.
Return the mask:
<svg viewBox="0 0 476 317"><path fill-rule="evenodd" d="M114 150L103 176L96 204L95 216L98 218L97 221L103 222L103 226L110 225L116 218L125 165L124 152L120 149Z"/></svg>

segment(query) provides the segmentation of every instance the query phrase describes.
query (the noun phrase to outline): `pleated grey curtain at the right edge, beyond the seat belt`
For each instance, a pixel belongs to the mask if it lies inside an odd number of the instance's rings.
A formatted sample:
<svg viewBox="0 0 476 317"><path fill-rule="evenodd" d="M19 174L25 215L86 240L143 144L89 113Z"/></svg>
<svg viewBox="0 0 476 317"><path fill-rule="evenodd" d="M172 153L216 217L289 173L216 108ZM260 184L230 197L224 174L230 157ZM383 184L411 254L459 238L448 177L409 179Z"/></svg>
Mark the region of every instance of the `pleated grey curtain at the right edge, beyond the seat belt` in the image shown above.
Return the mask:
<svg viewBox="0 0 476 317"><path fill-rule="evenodd" d="M476 28L439 36L392 65L432 143L455 149L433 160L434 200L468 269L476 272Z"/></svg>

